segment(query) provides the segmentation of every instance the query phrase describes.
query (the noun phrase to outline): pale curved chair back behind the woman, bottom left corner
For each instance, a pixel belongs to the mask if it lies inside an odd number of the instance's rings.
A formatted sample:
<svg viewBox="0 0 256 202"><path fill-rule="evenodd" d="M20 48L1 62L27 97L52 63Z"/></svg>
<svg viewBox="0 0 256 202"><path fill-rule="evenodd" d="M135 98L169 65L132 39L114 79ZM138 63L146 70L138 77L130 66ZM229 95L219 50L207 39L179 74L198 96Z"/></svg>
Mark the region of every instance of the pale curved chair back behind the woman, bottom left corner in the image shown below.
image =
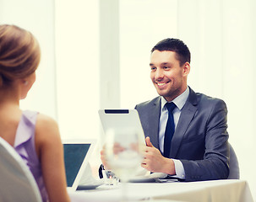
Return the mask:
<svg viewBox="0 0 256 202"><path fill-rule="evenodd" d="M41 202L41 194L19 154L0 137L0 201Z"/></svg>

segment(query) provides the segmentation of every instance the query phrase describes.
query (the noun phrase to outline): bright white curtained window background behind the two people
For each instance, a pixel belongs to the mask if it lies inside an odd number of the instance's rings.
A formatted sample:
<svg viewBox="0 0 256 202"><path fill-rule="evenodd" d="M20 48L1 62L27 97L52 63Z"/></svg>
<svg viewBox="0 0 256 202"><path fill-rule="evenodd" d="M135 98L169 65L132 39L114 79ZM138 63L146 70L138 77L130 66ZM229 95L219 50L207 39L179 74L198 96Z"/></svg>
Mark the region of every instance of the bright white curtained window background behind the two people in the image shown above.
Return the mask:
<svg viewBox="0 0 256 202"><path fill-rule="evenodd" d="M29 29L41 45L37 81L22 109L57 120L63 139L104 143L98 109L133 109L155 98L150 50L183 40L188 85L222 98L241 178L256 199L255 0L0 0L0 23Z"/></svg>

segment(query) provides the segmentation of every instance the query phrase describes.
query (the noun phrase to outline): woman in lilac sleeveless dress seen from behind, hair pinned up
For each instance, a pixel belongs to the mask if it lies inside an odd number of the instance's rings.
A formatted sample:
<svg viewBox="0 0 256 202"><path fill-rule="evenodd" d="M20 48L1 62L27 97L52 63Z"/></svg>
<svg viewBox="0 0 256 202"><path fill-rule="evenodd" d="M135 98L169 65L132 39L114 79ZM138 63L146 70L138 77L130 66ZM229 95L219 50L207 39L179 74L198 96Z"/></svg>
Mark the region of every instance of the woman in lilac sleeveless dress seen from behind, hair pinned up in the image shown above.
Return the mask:
<svg viewBox="0 0 256 202"><path fill-rule="evenodd" d="M43 201L69 201L56 121L19 109L19 100L35 82L40 57L39 44L29 31L0 25L0 136L30 167Z"/></svg>

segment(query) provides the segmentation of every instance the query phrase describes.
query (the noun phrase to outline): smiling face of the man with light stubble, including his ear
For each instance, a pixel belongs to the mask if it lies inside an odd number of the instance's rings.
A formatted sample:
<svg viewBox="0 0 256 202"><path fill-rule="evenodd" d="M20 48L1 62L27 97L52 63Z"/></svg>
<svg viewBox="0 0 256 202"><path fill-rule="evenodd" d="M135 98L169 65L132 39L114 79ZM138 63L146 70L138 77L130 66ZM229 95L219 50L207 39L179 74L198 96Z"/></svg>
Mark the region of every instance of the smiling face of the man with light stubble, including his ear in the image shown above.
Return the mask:
<svg viewBox="0 0 256 202"><path fill-rule="evenodd" d="M180 66L176 53L154 50L150 57L150 78L159 95L172 101L187 88L188 62Z"/></svg>

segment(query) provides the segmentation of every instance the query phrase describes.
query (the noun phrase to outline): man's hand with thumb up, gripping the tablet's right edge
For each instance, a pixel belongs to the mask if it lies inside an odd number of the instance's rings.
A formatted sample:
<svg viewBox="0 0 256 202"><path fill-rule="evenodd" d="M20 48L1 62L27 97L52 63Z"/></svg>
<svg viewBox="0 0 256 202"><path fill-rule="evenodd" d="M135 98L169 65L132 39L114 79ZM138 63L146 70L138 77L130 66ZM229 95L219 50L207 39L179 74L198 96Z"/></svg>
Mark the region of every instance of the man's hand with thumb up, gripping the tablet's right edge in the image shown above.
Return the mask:
<svg viewBox="0 0 256 202"><path fill-rule="evenodd" d="M153 173L175 175L175 167L172 159L163 157L161 152L152 145L150 137L146 137L145 141L144 161L141 163L141 167Z"/></svg>

